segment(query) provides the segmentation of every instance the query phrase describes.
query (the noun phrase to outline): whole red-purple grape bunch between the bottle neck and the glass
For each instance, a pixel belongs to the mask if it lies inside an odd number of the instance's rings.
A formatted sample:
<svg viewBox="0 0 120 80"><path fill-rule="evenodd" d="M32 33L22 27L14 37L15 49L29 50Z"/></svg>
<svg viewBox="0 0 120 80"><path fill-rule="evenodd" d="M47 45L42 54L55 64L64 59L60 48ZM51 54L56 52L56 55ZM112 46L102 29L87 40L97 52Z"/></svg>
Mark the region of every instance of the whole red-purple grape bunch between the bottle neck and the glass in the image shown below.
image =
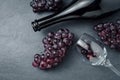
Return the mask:
<svg viewBox="0 0 120 80"><path fill-rule="evenodd" d="M67 48L72 44L73 33L68 29L50 32L43 38L44 54L35 54L32 65L42 70L50 69L62 62Z"/></svg>

